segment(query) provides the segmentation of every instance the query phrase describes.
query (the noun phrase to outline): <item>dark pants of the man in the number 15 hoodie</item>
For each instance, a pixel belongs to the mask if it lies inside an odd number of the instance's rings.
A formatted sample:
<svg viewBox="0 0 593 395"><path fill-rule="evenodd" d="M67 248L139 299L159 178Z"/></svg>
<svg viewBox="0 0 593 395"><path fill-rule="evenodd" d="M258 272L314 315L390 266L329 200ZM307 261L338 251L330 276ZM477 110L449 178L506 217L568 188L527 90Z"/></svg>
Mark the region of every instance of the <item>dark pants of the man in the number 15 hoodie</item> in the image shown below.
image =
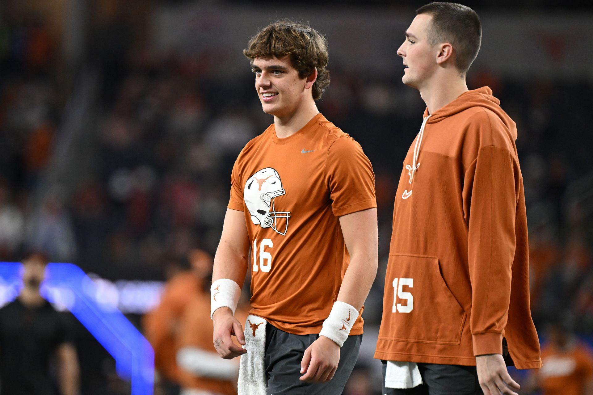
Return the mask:
<svg viewBox="0 0 593 395"><path fill-rule="evenodd" d="M418 364L422 385L415 388L385 388L383 362L383 393L385 395L483 395L475 366Z"/></svg>

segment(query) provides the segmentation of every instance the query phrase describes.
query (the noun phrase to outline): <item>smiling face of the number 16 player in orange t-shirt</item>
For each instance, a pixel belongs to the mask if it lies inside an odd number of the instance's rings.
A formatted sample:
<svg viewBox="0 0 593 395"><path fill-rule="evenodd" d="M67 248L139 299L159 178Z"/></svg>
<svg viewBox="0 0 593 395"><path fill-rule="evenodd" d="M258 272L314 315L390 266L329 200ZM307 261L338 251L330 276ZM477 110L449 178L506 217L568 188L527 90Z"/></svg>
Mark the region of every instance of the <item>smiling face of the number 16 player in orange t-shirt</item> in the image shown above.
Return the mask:
<svg viewBox="0 0 593 395"><path fill-rule="evenodd" d="M255 58L256 91L264 113L283 118L295 114L305 100L313 101L310 78L299 78L288 55Z"/></svg>

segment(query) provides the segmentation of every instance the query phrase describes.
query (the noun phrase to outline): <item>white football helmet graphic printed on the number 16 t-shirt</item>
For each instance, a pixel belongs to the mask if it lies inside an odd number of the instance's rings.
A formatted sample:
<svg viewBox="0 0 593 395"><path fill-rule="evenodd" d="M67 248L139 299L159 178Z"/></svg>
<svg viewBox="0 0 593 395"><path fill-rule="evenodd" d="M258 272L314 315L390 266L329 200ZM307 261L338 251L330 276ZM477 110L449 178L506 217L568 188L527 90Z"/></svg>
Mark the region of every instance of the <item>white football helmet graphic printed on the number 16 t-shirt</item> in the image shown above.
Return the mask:
<svg viewBox="0 0 593 395"><path fill-rule="evenodd" d="M251 221L262 228L272 228L276 233L285 235L288 231L289 211L276 211L275 200L278 196L285 195L282 181L278 171L266 167L249 177L243 189L243 199L251 214ZM285 219L285 224L278 230L280 221Z"/></svg>

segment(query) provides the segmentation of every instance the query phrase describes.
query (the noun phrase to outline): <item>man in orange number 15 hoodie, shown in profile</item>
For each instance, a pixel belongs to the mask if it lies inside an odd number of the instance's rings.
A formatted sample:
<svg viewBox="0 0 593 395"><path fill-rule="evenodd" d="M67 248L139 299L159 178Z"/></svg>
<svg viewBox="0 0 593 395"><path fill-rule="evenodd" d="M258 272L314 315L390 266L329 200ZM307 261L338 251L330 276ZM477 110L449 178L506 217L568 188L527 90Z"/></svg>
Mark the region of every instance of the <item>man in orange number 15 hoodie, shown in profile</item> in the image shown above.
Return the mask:
<svg viewBox="0 0 593 395"><path fill-rule="evenodd" d="M397 54L426 110L394 205L383 393L516 395L506 364L541 367L517 129L490 88L467 88L476 12L433 2L416 14Z"/></svg>

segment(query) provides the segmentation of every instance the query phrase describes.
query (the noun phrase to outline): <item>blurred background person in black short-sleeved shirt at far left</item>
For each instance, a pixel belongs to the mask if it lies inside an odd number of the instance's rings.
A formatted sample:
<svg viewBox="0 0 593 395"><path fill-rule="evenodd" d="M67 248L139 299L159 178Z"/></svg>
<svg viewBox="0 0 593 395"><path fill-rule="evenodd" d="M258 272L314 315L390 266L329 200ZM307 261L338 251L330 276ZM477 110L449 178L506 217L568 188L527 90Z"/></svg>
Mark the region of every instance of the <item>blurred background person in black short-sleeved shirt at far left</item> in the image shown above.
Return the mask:
<svg viewBox="0 0 593 395"><path fill-rule="evenodd" d="M0 393L78 395L79 367L71 328L39 292L47 257L23 260L23 289L0 309ZM57 362L53 377L52 361Z"/></svg>

